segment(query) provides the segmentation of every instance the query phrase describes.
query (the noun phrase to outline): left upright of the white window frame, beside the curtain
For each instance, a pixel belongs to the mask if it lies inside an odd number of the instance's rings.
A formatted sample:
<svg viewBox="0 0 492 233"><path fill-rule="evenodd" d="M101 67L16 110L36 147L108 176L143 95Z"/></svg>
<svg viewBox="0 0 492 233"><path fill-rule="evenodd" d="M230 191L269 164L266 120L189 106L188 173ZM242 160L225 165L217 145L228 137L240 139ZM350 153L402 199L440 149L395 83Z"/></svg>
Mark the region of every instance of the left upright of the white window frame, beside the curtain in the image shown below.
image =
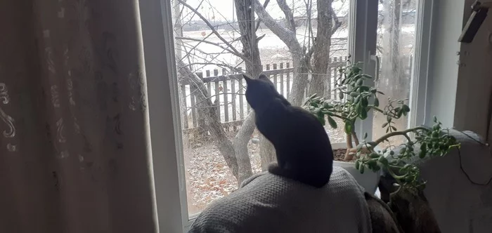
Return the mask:
<svg viewBox="0 0 492 233"><path fill-rule="evenodd" d="M155 188L155 222L159 232L185 232L189 224L181 157L181 119L177 92L174 36L169 0L138 1L148 91Z"/></svg>

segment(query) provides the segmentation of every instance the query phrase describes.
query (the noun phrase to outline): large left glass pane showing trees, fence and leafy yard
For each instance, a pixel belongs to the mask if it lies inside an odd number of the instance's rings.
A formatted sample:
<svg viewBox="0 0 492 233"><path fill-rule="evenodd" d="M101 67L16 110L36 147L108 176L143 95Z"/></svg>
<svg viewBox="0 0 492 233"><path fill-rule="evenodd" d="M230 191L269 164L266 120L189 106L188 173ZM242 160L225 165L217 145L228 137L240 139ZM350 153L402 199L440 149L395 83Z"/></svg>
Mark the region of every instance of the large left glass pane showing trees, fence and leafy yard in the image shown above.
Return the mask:
<svg viewBox="0 0 492 233"><path fill-rule="evenodd" d="M311 93L337 98L336 67L348 55L350 0L288 0L286 4L289 9L283 11L278 1L269 1L265 11L273 18L271 23L296 34L297 41L282 38L265 20L259 22L264 13L252 19L251 0L172 3L189 215L227 196L238 188L238 181L275 159L260 153L259 133L248 130L254 123L246 120L250 107L242 72L252 74L258 65L291 102L293 96L302 100ZM329 17L318 22L318 13ZM251 38L256 38L252 47L257 46L257 56L250 44L245 47L241 41ZM312 48L314 39L319 48ZM329 46L321 46L322 42ZM304 56L311 55L310 62L299 68ZM295 84L301 91L292 88ZM342 130L327 126L327 131L332 142L343 142ZM238 145L247 145L246 156L235 148Z"/></svg>

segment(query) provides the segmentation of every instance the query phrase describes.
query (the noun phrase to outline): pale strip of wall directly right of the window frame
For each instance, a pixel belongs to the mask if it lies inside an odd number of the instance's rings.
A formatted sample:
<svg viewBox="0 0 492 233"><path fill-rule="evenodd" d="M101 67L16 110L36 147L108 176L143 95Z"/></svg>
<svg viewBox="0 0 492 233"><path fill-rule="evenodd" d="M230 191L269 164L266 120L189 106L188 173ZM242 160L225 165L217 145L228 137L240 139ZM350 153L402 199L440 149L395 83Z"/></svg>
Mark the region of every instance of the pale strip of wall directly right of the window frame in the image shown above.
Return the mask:
<svg viewBox="0 0 492 233"><path fill-rule="evenodd" d="M429 51L429 83L425 123L438 116L444 126L454 123L458 81L458 51L465 0L434 0L431 44Z"/></svg>

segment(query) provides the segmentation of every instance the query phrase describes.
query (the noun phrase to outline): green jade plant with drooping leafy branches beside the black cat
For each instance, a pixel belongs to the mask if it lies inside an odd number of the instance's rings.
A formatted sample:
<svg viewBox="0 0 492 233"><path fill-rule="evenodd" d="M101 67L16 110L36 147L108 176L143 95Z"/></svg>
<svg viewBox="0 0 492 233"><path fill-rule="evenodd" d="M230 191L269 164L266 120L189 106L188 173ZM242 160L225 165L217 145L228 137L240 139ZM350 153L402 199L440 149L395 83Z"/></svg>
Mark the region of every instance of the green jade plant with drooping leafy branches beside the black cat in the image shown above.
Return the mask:
<svg viewBox="0 0 492 233"><path fill-rule="evenodd" d="M417 126L401 131L396 128L395 120L407 116L410 107L406 104L406 100L391 98L388 98L386 106L381 107L379 98L384 93L364 84L364 80L373 77L363 74L360 64L339 67L337 80L339 85L335 88L339 100L325 100L317 95L311 95L304 102L304 108L313 113L323 126L328 119L328 124L332 128L337 128L335 118L342 120L347 142L344 161L354 161L354 166L359 172L364 173L367 168L375 172L384 169L402 187L425 187L425 182L420 179L420 170L410 163L411 159L443 156L451 148L458 147L458 141L449 134L448 129L441 127L442 124L436 117L432 128ZM365 133L363 140L359 141L354 126L356 121L367 119L369 111L376 111L386 116L386 122L382 124L386 134L369 141ZM406 142L399 146L382 147L383 142L389 142L390 138L396 136L403 136Z"/></svg>

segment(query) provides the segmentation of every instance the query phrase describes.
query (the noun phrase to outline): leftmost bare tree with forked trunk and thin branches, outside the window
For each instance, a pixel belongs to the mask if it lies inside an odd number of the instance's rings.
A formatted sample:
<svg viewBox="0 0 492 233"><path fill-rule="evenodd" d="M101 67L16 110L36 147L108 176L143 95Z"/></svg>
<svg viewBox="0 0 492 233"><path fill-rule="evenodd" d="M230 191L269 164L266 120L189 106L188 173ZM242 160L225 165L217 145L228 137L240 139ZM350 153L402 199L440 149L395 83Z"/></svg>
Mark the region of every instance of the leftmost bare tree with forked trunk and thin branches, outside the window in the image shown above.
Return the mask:
<svg viewBox="0 0 492 233"><path fill-rule="evenodd" d="M240 32L240 42L242 44L242 51L238 51L236 46L233 44L234 41L227 41L224 39L219 32L216 31L214 25L212 25L205 16L203 16L198 8L193 8L192 6L186 4L183 0L176 0L183 7L188 8L193 14L197 15L203 22L205 22L209 29L212 30L212 33L208 36L205 36L204 39L199 40L198 43L212 44L219 48L222 48L227 53L231 53L238 58L241 58L245 62L246 72L250 76L258 76L261 72L261 60L259 58L259 49L258 49L258 38L256 36L256 27L254 24L254 13L252 12L252 2L251 1L242 1L236 0L236 14L238 15L238 25ZM217 38L220 39L221 44L217 44L212 41L207 41L207 38L214 34ZM196 41L193 38L186 38L183 36L176 37L177 41ZM193 49L197 49L197 46L193 46ZM179 52L181 53L181 51ZM190 51L186 53L186 55L190 55ZM213 56L212 56L213 57ZM220 64L219 61L214 60L214 58L209 59L211 62L205 62L207 64L211 64L214 62L216 65L230 67L234 69L235 67L231 67L228 64ZM188 62L190 63L190 62ZM200 79L197 74L193 73L190 69L190 64L186 64L183 61L183 58L177 59L178 71L179 74L183 77L179 81L182 84L190 84L190 89L195 90L195 97L197 98L197 104L195 107L198 108L199 116L205 119L205 128L212 136L212 139L216 146L219 149L219 152L226 160L226 163L235 178L238 182L242 182L246 178L249 178L252 175L251 161L247 149L247 143L250 141L251 135L254 131L254 112L250 112L238 133L236 133L234 138L228 138L226 132L224 131L224 127L220 122L220 117L217 115L215 110L215 104L212 103L210 98L210 93L207 91L207 87L205 86L202 79Z"/></svg>

